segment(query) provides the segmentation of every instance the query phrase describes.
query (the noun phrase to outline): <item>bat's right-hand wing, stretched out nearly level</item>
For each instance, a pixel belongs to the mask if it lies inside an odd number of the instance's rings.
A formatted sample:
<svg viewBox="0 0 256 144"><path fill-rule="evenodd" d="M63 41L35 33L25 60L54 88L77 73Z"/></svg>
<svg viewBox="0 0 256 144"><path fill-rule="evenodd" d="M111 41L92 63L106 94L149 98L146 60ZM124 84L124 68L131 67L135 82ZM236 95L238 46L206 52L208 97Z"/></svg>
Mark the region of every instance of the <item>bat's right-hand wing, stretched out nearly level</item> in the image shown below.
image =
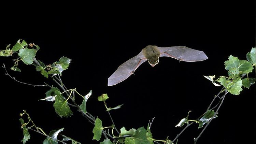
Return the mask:
<svg viewBox="0 0 256 144"><path fill-rule="evenodd" d="M172 57L180 61L203 61L208 57L202 51L186 46L158 47L160 57Z"/></svg>

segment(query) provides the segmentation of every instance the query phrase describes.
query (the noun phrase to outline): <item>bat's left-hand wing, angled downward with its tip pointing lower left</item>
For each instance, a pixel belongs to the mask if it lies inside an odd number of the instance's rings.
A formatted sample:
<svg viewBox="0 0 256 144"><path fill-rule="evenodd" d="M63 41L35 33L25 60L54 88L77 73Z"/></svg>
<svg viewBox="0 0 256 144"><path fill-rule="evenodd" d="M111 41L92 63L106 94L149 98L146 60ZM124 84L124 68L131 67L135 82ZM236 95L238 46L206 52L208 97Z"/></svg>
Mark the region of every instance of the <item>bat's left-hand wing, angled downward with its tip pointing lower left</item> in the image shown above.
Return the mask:
<svg viewBox="0 0 256 144"><path fill-rule="evenodd" d="M142 54L142 51L137 56L127 60L109 77L108 86L113 86L124 81L145 61L147 59Z"/></svg>

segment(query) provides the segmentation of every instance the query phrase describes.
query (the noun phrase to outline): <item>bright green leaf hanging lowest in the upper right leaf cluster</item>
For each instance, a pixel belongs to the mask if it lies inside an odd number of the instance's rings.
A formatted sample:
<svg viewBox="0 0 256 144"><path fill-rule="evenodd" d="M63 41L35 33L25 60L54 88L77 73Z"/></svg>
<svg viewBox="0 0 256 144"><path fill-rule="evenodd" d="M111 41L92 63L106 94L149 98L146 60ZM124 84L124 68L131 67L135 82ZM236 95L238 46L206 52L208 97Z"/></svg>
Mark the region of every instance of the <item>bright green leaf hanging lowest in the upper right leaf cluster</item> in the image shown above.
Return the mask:
<svg viewBox="0 0 256 144"><path fill-rule="evenodd" d="M228 92L230 92L233 95L239 95L240 91L243 90L241 87L242 87L241 77L238 77L227 84Z"/></svg>

